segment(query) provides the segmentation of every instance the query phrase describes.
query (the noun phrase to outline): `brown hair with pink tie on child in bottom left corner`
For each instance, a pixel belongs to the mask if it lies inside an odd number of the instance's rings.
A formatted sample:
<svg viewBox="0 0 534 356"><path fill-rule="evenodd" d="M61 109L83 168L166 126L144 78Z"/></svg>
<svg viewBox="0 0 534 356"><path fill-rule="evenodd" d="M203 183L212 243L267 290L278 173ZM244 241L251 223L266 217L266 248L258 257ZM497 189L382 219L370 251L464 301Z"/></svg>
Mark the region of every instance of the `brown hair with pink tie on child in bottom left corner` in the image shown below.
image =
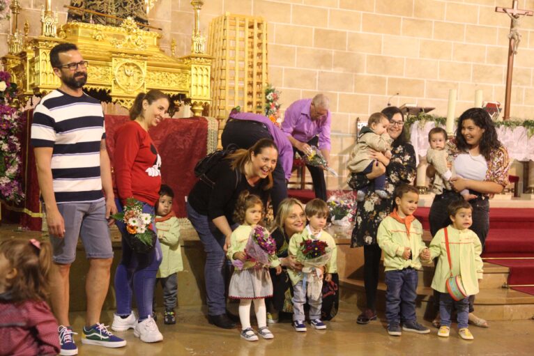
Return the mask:
<svg viewBox="0 0 534 356"><path fill-rule="evenodd" d="M13 301L47 300L52 247L47 241L10 239L0 242L0 254L17 273L8 280Z"/></svg>

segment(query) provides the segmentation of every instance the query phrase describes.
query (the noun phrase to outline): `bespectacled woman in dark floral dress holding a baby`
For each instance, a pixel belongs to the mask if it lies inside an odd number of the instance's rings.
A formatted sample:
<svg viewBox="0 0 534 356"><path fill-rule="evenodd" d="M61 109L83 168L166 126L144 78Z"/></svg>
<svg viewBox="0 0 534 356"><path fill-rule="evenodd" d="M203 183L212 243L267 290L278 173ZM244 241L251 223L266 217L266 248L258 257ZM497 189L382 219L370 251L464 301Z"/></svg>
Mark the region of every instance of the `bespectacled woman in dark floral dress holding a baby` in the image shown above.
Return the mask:
<svg viewBox="0 0 534 356"><path fill-rule="evenodd" d="M376 288L379 284L379 265L382 254L376 242L376 231L382 219L392 211L392 196L395 188L402 183L411 183L415 178L415 150L407 139L402 111L397 107L386 107L381 112L389 119L388 134L393 139L391 158L375 150L369 150L369 157L376 160L371 173L351 173L349 177L349 186L358 190L367 186L370 180L386 173L386 191L390 196L383 199L374 190L369 189L364 200L358 202L351 247L363 247L363 274L367 299L367 308L356 320L358 324L367 324L371 320L376 320Z"/></svg>

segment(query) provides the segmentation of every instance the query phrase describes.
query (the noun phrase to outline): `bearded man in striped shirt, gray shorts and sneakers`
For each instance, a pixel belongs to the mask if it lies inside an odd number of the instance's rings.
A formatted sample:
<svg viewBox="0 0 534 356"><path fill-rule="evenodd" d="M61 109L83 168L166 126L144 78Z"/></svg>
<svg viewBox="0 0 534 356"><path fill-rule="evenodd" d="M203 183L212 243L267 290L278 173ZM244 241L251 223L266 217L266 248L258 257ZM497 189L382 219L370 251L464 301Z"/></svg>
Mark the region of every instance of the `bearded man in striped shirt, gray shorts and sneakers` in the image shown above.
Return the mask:
<svg viewBox="0 0 534 356"><path fill-rule="evenodd" d="M60 324L61 355L77 355L68 311L70 265L79 236L89 258L82 343L110 348L126 344L99 322L113 261L107 219L116 206L102 106L82 90L87 61L75 45L62 43L52 48L50 63L61 86L33 112L31 145L54 252L52 309Z"/></svg>

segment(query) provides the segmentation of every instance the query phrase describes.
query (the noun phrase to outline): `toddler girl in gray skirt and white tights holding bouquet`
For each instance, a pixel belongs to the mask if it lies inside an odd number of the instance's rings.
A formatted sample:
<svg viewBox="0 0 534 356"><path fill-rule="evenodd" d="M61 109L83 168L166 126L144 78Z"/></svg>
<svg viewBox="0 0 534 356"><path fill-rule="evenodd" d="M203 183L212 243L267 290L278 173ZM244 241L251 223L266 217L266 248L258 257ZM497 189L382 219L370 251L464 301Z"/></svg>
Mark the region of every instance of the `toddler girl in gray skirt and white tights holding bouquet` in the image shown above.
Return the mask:
<svg viewBox="0 0 534 356"><path fill-rule="evenodd" d="M276 268L276 274L282 272L282 267L275 254L276 244L273 238L268 235L266 229L257 225L263 216L263 211L264 206L259 196L250 194L247 190L239 194L234 221L241 225L231 233L227 251L228 258L236 266L231 276L228 295L232 299L240 300L241 337L247 341L258 340L257 334L250 326L252 300L258 321L258 334L264 339L275 337L267 328L265 298L273 296L273 282L270 279L268 266ZM258 242L254 251L263 254L263 257L266 257L265 261L260 262L250 256L252 249L247 251L248 248L252 248L249 241L252 238L251 234L257 237Z"/></svg>

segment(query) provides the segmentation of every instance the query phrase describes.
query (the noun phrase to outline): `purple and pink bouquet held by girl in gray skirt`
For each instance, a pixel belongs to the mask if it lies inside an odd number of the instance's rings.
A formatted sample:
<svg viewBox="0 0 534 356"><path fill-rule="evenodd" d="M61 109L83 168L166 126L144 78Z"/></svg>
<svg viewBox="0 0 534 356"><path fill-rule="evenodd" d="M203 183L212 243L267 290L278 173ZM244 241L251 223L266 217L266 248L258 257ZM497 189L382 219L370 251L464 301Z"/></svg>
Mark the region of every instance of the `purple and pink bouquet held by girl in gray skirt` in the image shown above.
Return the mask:
<svg viewBox="0 0 534 356"><path fill-rule="evenodd" d="M254 261L257 265L269 265L269 258L276 253L276 242L269 231L263 226L256 225L250 231L250 235L245 246L245 255L248 261ZM242 270L243 262L236 260L234 266Z"/></svg>

